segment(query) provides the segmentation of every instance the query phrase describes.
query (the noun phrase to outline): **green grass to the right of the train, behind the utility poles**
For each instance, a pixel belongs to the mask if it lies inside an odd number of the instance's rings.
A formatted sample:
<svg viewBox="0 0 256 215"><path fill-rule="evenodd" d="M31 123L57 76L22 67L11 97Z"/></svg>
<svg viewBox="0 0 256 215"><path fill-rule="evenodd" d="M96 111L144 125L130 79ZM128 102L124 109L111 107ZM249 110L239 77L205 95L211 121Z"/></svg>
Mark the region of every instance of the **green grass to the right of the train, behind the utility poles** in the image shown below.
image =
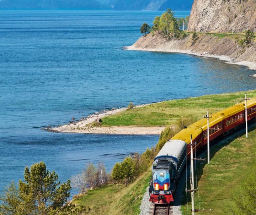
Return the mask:
<svg viewBox="0 0 256 215"><path fill-rule="evenodd" d="M226 140L210 148L210 165L197 165L199 199L201 209L212 209L208 214L227 214L234 208L234 198L244 187L246 176L255 165L256 153L256 125L251 127L249 138L239 137L244 131L233 134ZM205 155L206 156L206 155ZM204 157L205 157L204 156ZM188 194L190 201L190 194ZM199 209L198 193L195 194L195 208ZM191 210L191 203L188 204ZM183 199L183 214L187 214L186 198Z"/></svg>

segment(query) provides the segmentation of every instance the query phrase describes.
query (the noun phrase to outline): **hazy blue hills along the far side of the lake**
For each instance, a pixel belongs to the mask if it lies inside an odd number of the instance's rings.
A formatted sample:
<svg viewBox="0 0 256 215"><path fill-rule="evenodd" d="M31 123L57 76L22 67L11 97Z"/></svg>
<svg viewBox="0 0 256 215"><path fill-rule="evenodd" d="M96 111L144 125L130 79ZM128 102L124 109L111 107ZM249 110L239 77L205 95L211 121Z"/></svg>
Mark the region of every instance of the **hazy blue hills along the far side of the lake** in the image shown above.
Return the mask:
<svg viewBox="0 0 256 215"><path fill-rule="evenodd" d="M193 0L0 0L2 10L191 10Z"/></svg>

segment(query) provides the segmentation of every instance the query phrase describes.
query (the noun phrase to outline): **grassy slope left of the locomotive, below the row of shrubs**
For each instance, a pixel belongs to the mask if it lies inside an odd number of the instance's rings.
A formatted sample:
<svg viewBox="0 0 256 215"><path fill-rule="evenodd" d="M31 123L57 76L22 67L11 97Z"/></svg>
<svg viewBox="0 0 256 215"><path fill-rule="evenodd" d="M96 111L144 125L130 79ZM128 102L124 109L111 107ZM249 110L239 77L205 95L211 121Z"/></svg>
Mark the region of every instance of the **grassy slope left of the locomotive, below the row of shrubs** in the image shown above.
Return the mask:
<svg viewBox="0 0 256 215"><path fill-rule="evenodd" d="M142 197L148 187L151 176L150 170L143 173L135 182L127 188L111 184L95 190L90 190L81 199L74 200L76 205L90 206L91 214L139 214L139 206Z"/></svg>

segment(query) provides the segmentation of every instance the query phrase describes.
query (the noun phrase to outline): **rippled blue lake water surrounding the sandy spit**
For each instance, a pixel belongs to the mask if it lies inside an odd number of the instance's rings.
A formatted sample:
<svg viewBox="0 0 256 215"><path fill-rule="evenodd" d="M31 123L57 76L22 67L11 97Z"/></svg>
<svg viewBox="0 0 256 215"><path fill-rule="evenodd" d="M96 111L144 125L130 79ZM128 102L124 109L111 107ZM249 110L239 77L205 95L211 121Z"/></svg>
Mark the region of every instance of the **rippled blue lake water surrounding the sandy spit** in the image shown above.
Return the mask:
<svg viewBox="0 0 256 215"><path fill-rule="evenodd" d="M108 170L158 136L41 131L105 108L254 89L251 71L184 54L123 50L161 11L0 12L0 189L43 160L64 181ZM188 11L177 12L185 17Z"/></svg>

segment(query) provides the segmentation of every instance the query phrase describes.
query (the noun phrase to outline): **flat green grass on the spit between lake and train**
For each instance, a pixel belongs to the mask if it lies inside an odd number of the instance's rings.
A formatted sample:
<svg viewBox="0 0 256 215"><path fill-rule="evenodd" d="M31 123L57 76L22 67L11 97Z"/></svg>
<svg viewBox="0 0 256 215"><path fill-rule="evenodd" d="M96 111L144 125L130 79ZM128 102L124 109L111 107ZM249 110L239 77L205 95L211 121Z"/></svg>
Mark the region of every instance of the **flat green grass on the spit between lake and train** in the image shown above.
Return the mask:
<svg viewBox="0 0 256 215"><path fill-rule="evenodd" d="M112 116L104 117L103 126L166 126L175 125L177 118L192 114L196 120L202 118L209 108L210 113L217 112L242 101L245 92L163 101L142 108L126 110ZM248 92L256 97L256 90Z"/></svg>

